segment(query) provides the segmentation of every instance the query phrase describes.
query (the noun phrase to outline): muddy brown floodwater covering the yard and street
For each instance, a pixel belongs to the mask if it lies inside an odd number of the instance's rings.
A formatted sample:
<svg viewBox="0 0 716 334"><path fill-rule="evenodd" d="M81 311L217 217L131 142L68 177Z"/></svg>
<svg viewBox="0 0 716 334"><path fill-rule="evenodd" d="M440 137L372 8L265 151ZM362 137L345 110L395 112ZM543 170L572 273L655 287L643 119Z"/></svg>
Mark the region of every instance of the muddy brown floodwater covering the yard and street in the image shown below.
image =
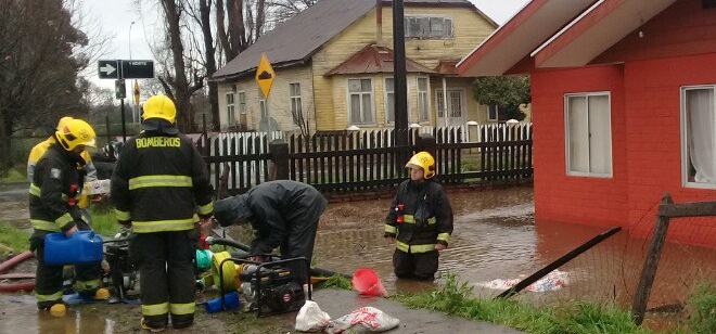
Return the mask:
<svg viewBox="0 0 716 334"><path fill-rule="evenodd" d="M530 188L450 193L449 197L456 213L455 232L450 247L440 254L439 271L456 273L482 297L501 292L484 288L483 283L524 278L606 230L549 221L535 224ZM316 265L348 274L359 268L373 268L389 293L435 288L439 282L396 280L393 274L394 248L382 236L388 206L389 200L331 204L321 219L316 240ZM245 236L240 230L232 228L230 234L235 239ZM563 288L523 292L516 298L537 305L586 299L628 309L647 247L643 239L629 231L619 232L560 268L568 274ZM713 249L667 243L649 306L682 305L695 282L716 277L715 269L716 252ZM0 295L0 323L3 324L0 333L118 333L128 329L119 325L122 322L133 323L139 317L136 307L102 307L107 311L82 313L80 310L57 320L38 313L29 296ZM110 311L111 308L123 311ZM280 317L278 321L291 329L292 317ZM651 313L645 323L653 330L670 330L682 321L683 314L668 312ZM129 329L137 330L136 326Z"/></svg>

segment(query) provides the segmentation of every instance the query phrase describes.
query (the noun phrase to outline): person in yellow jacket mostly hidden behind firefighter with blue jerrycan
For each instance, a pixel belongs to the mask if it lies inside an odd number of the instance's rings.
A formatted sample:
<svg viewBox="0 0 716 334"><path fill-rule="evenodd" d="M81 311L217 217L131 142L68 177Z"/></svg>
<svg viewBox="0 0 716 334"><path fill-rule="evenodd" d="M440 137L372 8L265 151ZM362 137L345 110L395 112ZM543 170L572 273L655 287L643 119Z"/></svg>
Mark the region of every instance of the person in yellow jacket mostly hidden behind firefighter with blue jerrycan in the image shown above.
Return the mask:
<svg viewBox="0 0 716 334"><path fill-rule="evenodd" d="M64 128L64 126L67 125L74 118L69 116L60 118L60 121L57 123L57 128L55 130ZM27 180L29 182L33 182L33 175L35 174L35 166L37 165L37 162L42 157L42 155L44 155L44 152L47 152L50 145L53 143L55 143L54 134L50 136L44 141L35 145L30 151L29 157L27 158ZM82 166L78 166L78 169L81 174L84 174L85 182L97 181L98 180L97 168L92 163L92 157L90 156L89 152L85 150L82 151L82 153L80 153L80 156L85 160L85 164ZM89 210L90 198L87 195L80 195L79 200L77 201L77 206L79 206L79 210L80 214L82 215L82 219L87 221L87 223L91 227L92 215Z"/></svg>

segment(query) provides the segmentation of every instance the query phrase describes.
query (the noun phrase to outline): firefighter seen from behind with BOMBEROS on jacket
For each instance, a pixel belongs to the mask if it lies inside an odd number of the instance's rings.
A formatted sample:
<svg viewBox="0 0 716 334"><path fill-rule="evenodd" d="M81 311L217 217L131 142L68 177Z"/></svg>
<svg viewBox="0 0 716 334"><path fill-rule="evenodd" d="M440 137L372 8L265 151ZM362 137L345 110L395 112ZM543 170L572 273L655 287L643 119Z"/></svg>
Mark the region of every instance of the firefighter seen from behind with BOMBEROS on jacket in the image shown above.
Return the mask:
<svg viewBox="0 0 716 334"><path fill-rule="evenodd" d="M143 131L127 141L112 175L117 219L137 234L130 251L140 262L141 326L161 331L194 321L194 243L200 221L214 214L206 164L175 126L165 95L144 103Z"/></svg>

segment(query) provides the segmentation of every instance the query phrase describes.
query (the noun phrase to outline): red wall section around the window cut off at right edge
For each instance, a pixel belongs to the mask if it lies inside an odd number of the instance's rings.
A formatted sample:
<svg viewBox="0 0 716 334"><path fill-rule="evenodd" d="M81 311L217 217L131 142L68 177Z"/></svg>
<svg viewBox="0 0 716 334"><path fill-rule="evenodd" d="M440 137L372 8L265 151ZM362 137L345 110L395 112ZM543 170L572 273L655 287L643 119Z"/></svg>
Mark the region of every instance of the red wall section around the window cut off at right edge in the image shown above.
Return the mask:
<svg viewBox="0 0 716 334"><path fill-rule="evenodd" d="M676 203L716 201L716 190L685 188L681 181L681 87L716 84L712 64L716 64L716 53L625 64L631 224L653 223L655 208L650 208L665 191ZM716 218L691 220L714 222ZM692 230L692 224L676 222L669 237L696 244L714 241L701 237L716 239L716 231L694 235Z"/></svg>

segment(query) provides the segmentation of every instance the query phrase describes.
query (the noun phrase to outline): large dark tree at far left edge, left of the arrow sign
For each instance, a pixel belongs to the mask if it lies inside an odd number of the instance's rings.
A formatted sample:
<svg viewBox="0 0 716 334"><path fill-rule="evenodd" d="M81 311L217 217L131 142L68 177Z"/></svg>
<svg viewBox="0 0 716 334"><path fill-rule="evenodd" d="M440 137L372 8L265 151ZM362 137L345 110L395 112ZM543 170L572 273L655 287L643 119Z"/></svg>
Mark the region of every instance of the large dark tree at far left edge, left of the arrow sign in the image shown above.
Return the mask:
<svg viewBox="0 0 716 334"><path fill-rule="evenodd" d="M78 73L101 47L77 27L73 0L0 1L0 155L9 157L11 134L87 115L87 85ZM4 172L12 159L0 163Z"/></svg>

